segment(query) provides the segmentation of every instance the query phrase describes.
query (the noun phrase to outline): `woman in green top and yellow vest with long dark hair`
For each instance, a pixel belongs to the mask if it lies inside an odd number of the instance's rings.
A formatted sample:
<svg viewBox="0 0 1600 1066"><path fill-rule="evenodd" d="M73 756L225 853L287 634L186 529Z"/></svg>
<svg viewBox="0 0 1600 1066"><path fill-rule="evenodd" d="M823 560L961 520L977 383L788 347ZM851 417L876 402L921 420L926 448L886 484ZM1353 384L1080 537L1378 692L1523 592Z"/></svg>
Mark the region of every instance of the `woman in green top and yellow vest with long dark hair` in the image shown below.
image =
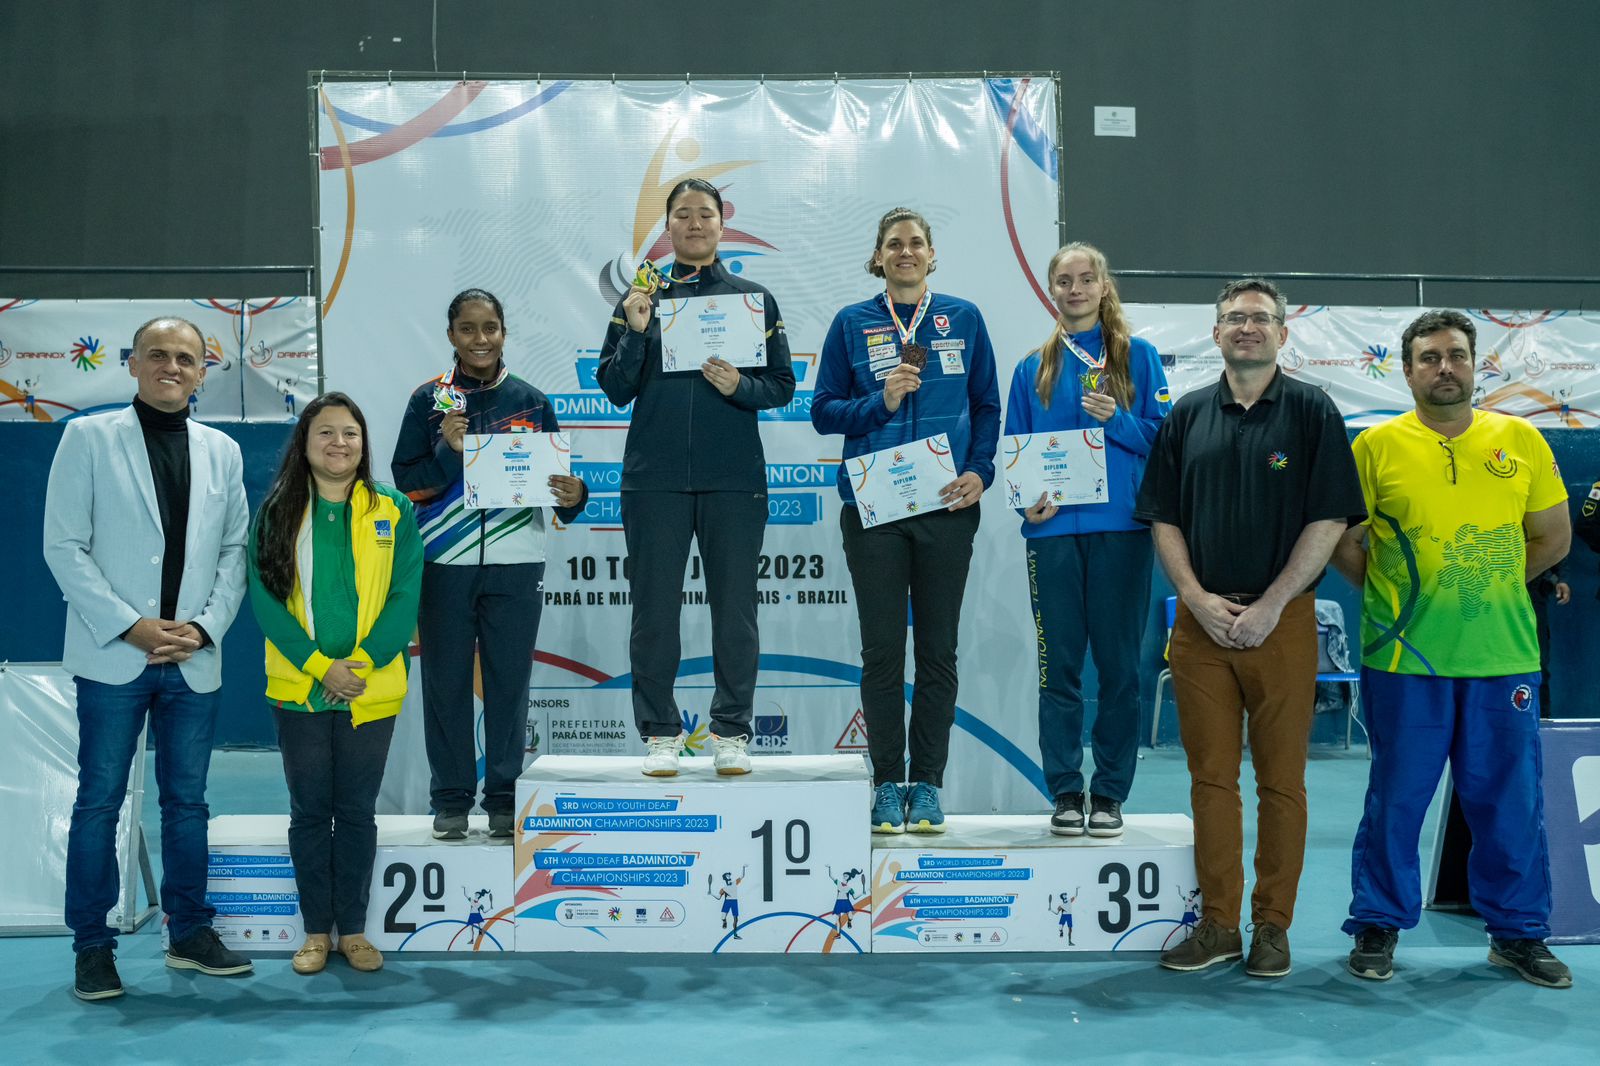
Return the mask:
<svg viewBox="0 0 1600 1066"><path fill-rule="evenodd" d="M333 949L355 970L378 852L373 810L422 587L411 501L373 480L366 419L342 392L306 405L250 533L250 602L267 635L267 703L290 787L290 858L306 943L296 973Z"/></svg>

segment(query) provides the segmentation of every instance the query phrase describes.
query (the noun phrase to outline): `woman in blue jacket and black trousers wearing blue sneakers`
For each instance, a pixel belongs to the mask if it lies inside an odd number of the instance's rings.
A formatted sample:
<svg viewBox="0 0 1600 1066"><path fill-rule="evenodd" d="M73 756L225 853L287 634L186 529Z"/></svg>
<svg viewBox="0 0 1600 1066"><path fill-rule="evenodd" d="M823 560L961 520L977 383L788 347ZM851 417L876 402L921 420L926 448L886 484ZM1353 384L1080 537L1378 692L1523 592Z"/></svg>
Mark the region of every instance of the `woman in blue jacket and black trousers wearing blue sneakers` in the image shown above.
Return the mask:
<svg viewBox="0 0 1600 1066"><path fill-rule="evenodd" d="M872 755L875 832L941 832L939 787L955 722L955 637L978 533L978 498L994 480L1000 391L978 307L928 290L933 234L894 208L878 221L867 271L886 291L834 317L822 343L811 423L845 434L843 458L947 434L958 475L944 511L862 528L845 464L840 530L861 619L861 712ZM906 730L906 597L917 679ZM907 771L907 739L910 767Z"/></svg>

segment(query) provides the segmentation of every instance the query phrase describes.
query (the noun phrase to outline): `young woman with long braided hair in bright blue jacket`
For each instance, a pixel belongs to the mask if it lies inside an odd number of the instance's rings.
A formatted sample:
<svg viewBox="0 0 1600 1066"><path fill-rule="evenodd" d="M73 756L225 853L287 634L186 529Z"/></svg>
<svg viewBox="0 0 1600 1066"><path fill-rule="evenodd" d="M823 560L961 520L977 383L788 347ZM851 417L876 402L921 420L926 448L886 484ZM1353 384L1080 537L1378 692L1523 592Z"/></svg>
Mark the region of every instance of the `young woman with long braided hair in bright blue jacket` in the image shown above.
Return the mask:
<svg viewBox="0 0 1600 1066"><path fill-rule="evenodd" d="M1056 797L1051 832L1114 837L1139 744L1139 639L1150 599L1150 530L1133 517L1155 431L1171 407L1162 360L1128 336L1106 256L1070 243L1050 259L1056 328L1011 375L1006 434L1101 429L1109 499L1022 514L1038 627L1038 749ZM1094 783L1083 802L1083 650L1094 653Z"/></svg>

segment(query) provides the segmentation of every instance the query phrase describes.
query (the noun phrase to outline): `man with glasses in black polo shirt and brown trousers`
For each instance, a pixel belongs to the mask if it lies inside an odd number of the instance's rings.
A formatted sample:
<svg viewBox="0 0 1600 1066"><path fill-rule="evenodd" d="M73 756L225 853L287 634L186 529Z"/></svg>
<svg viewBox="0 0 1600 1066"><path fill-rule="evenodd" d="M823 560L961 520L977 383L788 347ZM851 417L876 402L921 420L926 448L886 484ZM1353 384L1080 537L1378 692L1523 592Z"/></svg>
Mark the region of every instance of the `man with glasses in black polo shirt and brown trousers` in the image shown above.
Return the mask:
<svg viewBox="0 0 1600 1066"><path fill-rule="evenodd" d="M1278 370L1283 312L1283 296L1262 279L1222 290L1211 330L1222 376L1173 407L1134 511L1152 525L1179 599L1168 661L1205 898L1194 935L1162 952L1168 970L1203 970L1243 954L1243 722L1259 797L1245 972L1290 972L1317 703L1312 589L1334 543L1366 512L1338 408Z"/></svg>

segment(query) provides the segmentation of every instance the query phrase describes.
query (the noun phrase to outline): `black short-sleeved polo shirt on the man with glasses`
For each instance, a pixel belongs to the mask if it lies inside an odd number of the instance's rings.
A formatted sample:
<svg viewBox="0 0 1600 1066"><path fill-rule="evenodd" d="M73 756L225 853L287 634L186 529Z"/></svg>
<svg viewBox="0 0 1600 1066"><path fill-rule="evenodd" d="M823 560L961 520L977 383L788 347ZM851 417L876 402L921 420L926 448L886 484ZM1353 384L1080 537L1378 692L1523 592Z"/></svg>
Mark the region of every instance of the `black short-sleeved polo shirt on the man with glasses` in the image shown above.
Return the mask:
<svg viewBox="0 0 1600 1066"><path fill-rule="evenodd" d="M1248 410L1227 375L1178 400L1155 437L1133 517L1182 530L1206 592L1261 595L1307 525L1355 525L1366 504L1339 408L1278 370Z"/></svg>

